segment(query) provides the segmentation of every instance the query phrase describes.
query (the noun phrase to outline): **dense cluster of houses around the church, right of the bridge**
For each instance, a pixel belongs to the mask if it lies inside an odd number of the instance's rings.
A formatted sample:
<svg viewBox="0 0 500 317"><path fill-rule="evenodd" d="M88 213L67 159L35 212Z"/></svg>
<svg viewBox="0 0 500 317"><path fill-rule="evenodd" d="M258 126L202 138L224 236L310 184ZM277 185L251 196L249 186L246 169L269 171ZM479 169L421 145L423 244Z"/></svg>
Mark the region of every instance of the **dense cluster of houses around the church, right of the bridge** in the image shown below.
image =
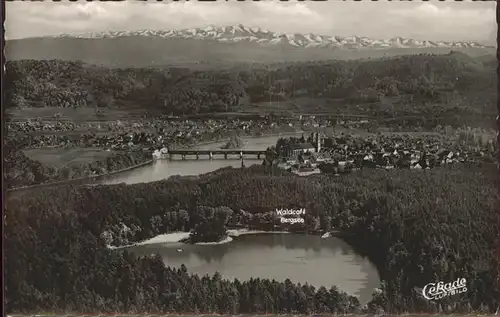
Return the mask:
<svg viewBox="0 0 500 317"><path fill-rule="evenodd" d="M494 162L493 140L487 146L471 148L450 144L439 137L338 136L291 140L277 145L280 167L299 175L341 173L361 168L431 169L437 166L475 161Z"/></svg>

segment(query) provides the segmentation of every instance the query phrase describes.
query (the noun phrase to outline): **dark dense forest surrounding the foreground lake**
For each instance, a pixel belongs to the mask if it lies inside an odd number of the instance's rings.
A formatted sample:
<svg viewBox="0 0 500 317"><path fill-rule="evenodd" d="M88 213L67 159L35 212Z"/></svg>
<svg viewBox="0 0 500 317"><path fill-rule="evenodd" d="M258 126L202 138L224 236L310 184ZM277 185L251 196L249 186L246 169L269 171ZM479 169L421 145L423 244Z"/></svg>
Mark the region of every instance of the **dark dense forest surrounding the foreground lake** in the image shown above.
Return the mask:
<svg viewBox="0 0 500 317"><path fill-rule="evenodd" d="M500 299L492 251L499 230L495 177L489 165L308 178L252 166L10 197L7 312L494 312ZM309 225L348 233L348 242L375 263L383 282L367 307L331 285L200 277L185 267L165 268L158 257L108 247L191 229L201 235L193 238L219 239L224 222L266 223L280 206L306 208ZM460 298L432 302L416 291L459 277L468 283Z"/></svg>

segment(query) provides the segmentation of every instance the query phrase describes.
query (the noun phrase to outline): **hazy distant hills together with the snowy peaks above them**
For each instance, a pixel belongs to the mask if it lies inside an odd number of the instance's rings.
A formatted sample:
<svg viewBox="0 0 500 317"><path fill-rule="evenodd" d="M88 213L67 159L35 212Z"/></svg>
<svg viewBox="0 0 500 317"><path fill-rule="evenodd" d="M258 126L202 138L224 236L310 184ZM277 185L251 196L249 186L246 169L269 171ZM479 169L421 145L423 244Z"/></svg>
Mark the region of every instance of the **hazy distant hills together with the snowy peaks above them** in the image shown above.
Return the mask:
<svg viewBox="0 0 500 317"><path fill-rule="evenodd" d="M187 30L107 32L28 38L6 42L8 60L60 59L107 67L208 67L378 58L450 50L470 56L494 54L474 42L433 42L406 38L373 40L314 34L276 33L241 25Z"/></svg>

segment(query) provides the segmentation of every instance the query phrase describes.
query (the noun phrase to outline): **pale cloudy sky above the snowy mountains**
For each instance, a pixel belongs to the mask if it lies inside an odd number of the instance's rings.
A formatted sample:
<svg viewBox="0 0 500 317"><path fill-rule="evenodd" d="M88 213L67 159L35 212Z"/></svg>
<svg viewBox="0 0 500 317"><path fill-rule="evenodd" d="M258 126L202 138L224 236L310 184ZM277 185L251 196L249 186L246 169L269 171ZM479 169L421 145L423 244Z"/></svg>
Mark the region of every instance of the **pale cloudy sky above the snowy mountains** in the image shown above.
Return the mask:
<svg viewBox="0 0 500 317"><path fill-rule="evenodd" d="M101 31L243 24L275 32L395 36L496 45L495 2L30 2L6 3L7 39Z"/></svg>

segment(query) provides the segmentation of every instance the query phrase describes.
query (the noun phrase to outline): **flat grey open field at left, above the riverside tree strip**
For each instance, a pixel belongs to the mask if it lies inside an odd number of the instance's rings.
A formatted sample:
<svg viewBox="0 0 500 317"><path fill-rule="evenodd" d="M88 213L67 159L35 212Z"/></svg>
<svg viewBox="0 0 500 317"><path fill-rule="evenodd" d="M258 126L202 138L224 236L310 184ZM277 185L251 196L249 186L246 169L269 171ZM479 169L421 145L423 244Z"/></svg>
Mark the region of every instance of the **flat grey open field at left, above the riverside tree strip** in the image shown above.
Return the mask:
<svg viewBox="0 0 500 317"><path fill-rule="evenodd" d="M74 164L90 164L116 153L98 148L43 148L28 149L23 152L32 160L58 168Z"/></svg>

